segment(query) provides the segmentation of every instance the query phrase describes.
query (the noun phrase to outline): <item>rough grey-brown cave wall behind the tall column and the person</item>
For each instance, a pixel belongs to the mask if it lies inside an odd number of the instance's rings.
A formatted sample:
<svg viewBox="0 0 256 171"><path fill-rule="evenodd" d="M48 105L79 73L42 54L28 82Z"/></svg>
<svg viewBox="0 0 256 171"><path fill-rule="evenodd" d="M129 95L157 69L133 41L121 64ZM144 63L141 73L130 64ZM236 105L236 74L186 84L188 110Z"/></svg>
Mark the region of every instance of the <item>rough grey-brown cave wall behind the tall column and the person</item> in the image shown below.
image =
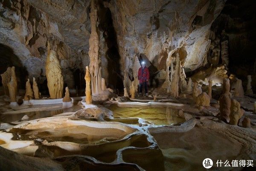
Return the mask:
<svg viewBox="0 0 256 171"><path fill-rule="evenodd" d="M169 53L181 56L185 72L206 65L210 27L225 0L97 3L102 77L109 87L122 89L123 80L129 88L137 77L141 54L153 74L165 73ZM57 51L64 84L84 85L81 78L90 62L90 0L0 0L0 11L0 43L12 49L39 88L46 85L47 41Z"/></svg>

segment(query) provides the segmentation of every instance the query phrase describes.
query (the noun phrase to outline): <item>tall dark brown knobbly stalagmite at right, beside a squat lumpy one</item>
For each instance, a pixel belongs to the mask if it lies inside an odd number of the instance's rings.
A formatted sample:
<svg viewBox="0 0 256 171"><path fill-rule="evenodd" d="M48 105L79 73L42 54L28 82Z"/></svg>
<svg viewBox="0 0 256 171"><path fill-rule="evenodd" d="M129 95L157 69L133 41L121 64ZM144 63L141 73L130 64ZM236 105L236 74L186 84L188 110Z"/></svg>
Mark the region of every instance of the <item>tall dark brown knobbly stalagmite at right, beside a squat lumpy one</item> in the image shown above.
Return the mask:
<svg viewBox="0 0 256 171"><path fill-rule="evenodd" d="M220 113L221 118L227 122L230 122L230 81L228 78L223 79L223 94L220 96Z"/></svg>

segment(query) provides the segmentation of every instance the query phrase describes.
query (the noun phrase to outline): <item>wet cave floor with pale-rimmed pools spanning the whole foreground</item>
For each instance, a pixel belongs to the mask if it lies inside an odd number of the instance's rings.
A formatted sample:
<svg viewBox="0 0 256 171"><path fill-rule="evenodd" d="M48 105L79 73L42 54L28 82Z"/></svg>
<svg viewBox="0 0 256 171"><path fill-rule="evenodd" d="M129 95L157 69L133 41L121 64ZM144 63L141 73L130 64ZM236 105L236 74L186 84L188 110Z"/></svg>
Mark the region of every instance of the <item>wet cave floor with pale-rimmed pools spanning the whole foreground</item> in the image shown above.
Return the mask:
<svg viewBox="0 0 256 171"><path fill-rule="evenodd" d="M195 106L189 94L174 99L159 93L156 101L153 96L118 97L89 109L76 101L67 109L51 104L20 110L12 110L1 96L0 158L39 159L32 164L37 168L47 163L63 170L87 165L102 171L203 171L202 161L210 158L214 165L209 171L242 170L216 166L217 160L256 159L255 99L237 100L245 110L239 126L220 121L216 105ZM245 116L251 128L241 127ZM26 165L14 167L29 170Z"/></svg>

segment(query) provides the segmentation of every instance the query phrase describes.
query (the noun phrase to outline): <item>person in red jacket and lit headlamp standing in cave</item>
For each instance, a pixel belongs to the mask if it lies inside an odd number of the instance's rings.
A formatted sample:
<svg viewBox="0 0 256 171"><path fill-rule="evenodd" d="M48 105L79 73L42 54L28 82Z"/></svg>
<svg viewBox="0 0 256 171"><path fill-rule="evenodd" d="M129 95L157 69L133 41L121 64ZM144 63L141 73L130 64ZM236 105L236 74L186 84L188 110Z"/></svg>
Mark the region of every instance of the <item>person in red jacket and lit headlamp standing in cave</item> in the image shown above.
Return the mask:
<svg viewBox="0 0 256 171"><path fill-rule="evenodd" d="M141 67L138 71L138 79L140 81L140 95L142 95L142 89L145 89L145 96L148 96L148 80L149 80L149 71L146 67L145 61L141 62Z"/></svg>

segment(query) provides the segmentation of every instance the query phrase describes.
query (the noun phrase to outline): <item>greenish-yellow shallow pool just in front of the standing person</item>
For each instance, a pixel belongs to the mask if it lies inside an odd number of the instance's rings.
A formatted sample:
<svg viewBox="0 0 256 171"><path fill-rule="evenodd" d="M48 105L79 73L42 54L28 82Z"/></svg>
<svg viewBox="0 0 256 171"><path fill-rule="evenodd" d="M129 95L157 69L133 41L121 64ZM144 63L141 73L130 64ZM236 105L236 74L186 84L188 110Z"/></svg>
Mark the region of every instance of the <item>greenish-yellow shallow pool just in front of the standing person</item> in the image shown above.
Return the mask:
<svg viewBox="0 0 256 171"><path fill-rule="evenodd" d="M184 118L177 116L178 109L173 107L119 107L118 104L105 107L113 112L115 119L142 118L154 125L172 125L185 122Z"/></svg>

